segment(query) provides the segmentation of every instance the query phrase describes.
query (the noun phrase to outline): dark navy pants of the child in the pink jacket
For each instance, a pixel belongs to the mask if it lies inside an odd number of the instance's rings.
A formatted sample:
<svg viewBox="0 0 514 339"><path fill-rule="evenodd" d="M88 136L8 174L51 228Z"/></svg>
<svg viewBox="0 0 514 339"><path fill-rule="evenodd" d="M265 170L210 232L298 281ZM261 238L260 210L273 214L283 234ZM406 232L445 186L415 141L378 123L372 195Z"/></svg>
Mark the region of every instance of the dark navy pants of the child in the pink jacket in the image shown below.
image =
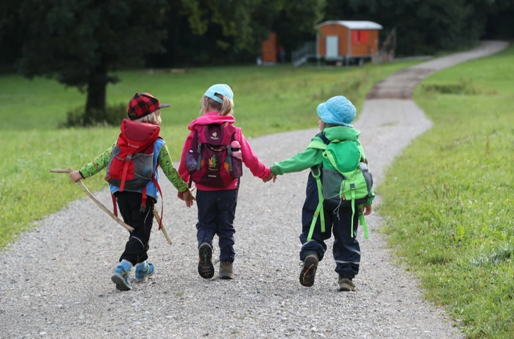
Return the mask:
<svg viewBox="0 0 514 339"><path fill-rule="evenodd" d="M203 242L213 245L215 235L219 238L220 261L234 261L234 218L236 217L237 189L220 191L196 190L198 222L196 237L198 246Z"/></svg>

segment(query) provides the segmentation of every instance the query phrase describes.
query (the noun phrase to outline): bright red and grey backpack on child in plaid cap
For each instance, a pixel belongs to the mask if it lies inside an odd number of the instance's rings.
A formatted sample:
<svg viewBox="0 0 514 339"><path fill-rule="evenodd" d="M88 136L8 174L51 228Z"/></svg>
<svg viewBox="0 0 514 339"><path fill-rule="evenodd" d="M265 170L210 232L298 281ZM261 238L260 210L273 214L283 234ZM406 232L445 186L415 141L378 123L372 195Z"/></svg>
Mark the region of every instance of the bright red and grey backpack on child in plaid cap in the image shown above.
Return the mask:
<svg viewBox="0 0 514 339"><path fill-rule="evenodd" d="M152 180L162 196L161 189L155 179L153 167L153 145L160 138L160 127L145 122L121 121L121 133L119 133L116 146L112 149L111 158L107 165L105 180L119 191L124 189L143 189L141 208L146 208L146 184ZM114 214L117 215L116 202L114 200ZM162 213L161 213L162 215ZM161 219L162 221L162 219ZM160 227L159 227L160 228Z"/></svg>

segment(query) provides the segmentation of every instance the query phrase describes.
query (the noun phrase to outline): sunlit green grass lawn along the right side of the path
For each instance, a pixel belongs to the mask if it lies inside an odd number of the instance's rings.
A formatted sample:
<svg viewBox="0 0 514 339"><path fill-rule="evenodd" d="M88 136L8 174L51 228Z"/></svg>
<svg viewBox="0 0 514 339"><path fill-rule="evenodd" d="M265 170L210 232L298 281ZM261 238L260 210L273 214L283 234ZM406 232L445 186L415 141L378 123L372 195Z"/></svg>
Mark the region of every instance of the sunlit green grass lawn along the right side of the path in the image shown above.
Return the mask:
<svg viewBox="0 0 514 339"><path fill-rule="evenodd" d="M514 338L513 61L510 47L419 85L434 127L378 189L399 261L469 338Z"/></svg>

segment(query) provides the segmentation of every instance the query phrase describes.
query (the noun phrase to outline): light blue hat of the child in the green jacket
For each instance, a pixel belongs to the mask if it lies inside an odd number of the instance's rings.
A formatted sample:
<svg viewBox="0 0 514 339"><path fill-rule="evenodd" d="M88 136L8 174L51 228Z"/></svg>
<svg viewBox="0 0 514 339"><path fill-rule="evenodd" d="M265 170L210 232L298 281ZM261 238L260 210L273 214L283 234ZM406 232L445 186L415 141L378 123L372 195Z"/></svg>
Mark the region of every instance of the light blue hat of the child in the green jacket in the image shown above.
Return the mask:
<svg viewBox="0 0 514 339"><path fill-rule="evenodd" d="M346 97L337 95L331 97L327 102L323 102L316 108L318 117L320 117L325 124L336 124L353 127L349 124L355 119L357 109Z"/></svg>

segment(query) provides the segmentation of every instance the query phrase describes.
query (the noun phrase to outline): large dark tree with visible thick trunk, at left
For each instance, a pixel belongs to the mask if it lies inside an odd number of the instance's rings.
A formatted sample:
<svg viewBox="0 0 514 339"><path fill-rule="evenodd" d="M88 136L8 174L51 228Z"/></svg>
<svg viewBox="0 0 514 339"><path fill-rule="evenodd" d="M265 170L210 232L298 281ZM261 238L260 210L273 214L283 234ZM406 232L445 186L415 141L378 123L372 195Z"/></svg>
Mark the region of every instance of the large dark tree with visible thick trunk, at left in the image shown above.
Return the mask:
<svg viewBox="0 0 514 339"><path fill-rule="evenodd" d="M85 116L105 112L113 72L162 50L164 0L25 0L28 27L19 70L47 76L87 93ZM100 114L100 117L102 115Z"/></svg>

